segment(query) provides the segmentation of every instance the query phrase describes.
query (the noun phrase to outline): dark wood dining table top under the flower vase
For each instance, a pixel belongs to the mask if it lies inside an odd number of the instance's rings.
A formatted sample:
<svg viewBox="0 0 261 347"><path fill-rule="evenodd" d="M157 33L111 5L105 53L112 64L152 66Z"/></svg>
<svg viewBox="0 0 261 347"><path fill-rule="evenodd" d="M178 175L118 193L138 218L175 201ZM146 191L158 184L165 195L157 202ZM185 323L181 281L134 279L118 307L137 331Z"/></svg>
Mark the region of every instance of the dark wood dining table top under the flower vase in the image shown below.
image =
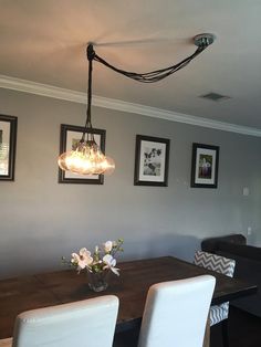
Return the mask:
<svg viewBox="0 0 261 347"><path fill-rule="evenodd" d="M140 323L147 291L152 284L212 274L217 278L212 304L249 295L257 286L238 278L196 266L173 256L129 261L118 264L121 276L111 274L105 292L88 288L86 273L63 270L0 281L0 338L12 336L15 316L24 311L71 303L100 295L119 298L117 330Z"/></svg>

